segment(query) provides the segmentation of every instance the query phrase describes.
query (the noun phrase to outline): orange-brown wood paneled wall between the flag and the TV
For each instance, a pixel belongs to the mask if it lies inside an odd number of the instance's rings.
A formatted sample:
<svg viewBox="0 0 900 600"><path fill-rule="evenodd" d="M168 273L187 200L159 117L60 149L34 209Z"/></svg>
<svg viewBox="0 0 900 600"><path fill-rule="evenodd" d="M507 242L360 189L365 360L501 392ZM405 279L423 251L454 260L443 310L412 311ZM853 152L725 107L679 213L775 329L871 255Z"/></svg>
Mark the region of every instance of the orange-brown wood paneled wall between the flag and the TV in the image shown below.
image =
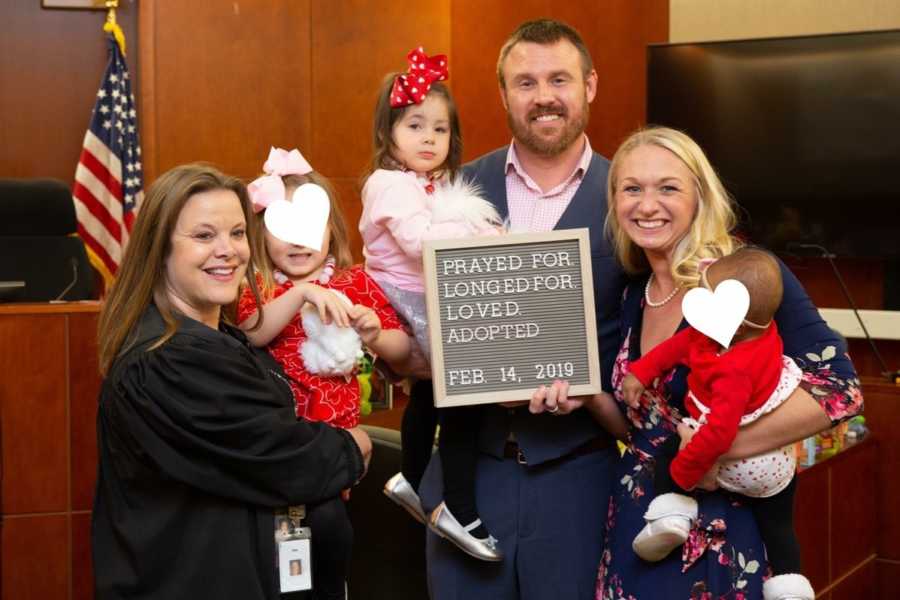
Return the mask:
<svg viewBox="0 0 900 600"><path fill-rule="evenodd" d="M547 15L578 28L591 49L600 93L588 133L609 154L643 123L645 45L666 39L666 0L144 2L147 179L193 160L252 178L270 145L297 146L335 183L359 258L359 180L384 75L404 70L415 46L447 53L465 157L474 158L510 137L495 75L500 46L521 21Z"/></svg>

